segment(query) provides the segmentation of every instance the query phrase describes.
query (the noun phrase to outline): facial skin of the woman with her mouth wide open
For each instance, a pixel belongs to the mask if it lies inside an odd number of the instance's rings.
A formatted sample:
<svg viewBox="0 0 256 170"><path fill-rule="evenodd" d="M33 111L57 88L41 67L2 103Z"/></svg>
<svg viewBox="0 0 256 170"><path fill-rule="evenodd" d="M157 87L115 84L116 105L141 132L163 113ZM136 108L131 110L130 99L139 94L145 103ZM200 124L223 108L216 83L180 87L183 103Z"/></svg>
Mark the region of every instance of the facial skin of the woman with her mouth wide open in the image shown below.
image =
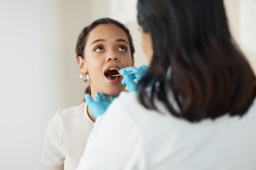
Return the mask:
<svg viewBox="0 0 256 170"><path fill-rule="evenodd" d="M127 43L117 41L120 39ZM94 42L96 40L103 41ZM127 49L123 48L123 45ZM81 72L89 74L93 99L97 91L106 94L109 101L110 95L118 96L121 91L125 90L126 86L122 85L122 81L119 84L111 84L104 75L105 69L109 65L117 65L121 69L134 66L128 37L121 28L114 24L100 24L95 27L87 37L84 56L84 59L81 57L77 59L77 64ZM90 109L87 108L87 110L89 117L95 122Z"/></svg>

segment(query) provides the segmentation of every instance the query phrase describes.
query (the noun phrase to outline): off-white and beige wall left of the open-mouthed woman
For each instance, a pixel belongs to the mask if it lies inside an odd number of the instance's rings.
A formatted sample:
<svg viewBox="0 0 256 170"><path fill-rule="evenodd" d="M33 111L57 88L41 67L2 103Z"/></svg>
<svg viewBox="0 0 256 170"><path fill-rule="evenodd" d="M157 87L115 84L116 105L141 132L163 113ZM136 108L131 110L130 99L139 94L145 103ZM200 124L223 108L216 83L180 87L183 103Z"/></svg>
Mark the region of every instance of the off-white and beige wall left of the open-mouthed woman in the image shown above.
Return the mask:
<svg viewBox="0 0 256 170"><path fill-rule="evenodd" d="M0 169L45 169L47 122L82 100L72 95L85 86L75 43L90 22L88 9L89 1L0 1Z"/></svg>

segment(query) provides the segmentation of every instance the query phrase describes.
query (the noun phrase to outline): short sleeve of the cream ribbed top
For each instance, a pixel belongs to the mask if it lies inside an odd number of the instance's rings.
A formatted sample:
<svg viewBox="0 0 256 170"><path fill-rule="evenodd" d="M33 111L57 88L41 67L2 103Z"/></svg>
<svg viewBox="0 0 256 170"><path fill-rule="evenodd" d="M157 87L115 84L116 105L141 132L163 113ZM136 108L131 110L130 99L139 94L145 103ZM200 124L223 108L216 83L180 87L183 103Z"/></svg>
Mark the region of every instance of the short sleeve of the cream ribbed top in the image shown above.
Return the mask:
<svg viewBox="0 0 256 170"><path fill-rule="evenodd" d="M41 162L48 167L56 167L64 164L65 156L61 151L63 138L63 121L60 111L49 121L44 139Z"/></svg>

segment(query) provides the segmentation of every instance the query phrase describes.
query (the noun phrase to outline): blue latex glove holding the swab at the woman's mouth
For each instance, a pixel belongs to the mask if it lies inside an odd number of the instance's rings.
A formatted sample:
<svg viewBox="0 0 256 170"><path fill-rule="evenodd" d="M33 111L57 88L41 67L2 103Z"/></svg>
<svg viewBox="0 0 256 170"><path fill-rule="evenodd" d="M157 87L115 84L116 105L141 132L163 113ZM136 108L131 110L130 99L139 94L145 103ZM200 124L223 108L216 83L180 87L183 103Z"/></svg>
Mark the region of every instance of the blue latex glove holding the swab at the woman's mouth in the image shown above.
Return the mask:
<svg viewBox="0 0 256 170"><path fill-rule="evenodd" d="M126 84L129 91L135 91L137 84L134 82L134 79L141 80L147 69L147 66L142 65L138 69L136 67L125 67L119 70L119 74L123 75L122 84ZM131 72L136 72L136 74L129 74Z"/></svg>

